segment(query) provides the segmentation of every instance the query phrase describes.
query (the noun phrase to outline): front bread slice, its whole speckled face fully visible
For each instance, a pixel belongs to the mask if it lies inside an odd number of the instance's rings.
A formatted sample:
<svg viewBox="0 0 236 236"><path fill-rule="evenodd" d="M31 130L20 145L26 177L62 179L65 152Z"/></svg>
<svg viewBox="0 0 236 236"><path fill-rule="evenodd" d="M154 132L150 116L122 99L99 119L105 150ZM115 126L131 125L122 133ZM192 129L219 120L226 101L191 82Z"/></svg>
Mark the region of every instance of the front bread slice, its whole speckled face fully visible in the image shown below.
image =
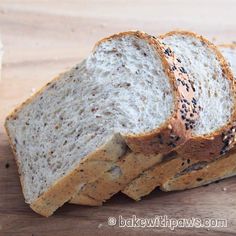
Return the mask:
<svg viewBox="0 0 236 236"><path fill-rule="evenodd" d="M158 154L184 143L197 112L190 114L194 88L181 70L169 47L124 32L16 108L5 127L30 207L50 216L129 148Z"/></svg>

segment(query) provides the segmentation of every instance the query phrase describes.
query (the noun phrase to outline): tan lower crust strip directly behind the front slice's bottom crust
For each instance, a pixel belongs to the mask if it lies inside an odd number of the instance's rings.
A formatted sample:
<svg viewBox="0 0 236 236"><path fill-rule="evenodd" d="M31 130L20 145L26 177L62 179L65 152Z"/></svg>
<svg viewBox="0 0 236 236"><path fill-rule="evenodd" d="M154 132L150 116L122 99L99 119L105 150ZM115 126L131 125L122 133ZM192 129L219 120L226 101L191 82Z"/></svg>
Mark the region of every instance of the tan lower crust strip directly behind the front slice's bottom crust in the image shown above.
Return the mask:
<svg viewBox="0 0 236 236"><path fill-rule="evenodd" d="M70 203L94 206L90 198L97 200L97 205L102 205L115 193L136 178L141 172L150 166L161 162L163 155L143 155L129 152L114 164L111 170L105 172L95 182L84 185L84 187L71 199ZM116 168L117 174L112 170ZM87 198L86 198L87 197Z"/></svg>

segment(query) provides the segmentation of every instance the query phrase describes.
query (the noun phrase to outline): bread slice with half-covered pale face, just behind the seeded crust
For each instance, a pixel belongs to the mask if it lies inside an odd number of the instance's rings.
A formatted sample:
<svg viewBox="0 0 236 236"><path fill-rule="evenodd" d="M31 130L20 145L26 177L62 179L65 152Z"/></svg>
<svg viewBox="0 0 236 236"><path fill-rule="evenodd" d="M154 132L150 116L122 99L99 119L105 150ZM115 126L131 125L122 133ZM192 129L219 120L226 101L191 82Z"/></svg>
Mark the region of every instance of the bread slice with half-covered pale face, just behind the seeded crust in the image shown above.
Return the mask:
<svg viewBox="0 0 236 236"><path fill-rule="evenodd" d="M235 142L235 85L232 72L219 50L203 37L189 32L171 32L161 38L181 58L195 85L202 109L193 137L171 154L173 159L145 171L123 190L135 200L189 166L196 167L197 163L219 158L233 148Z"/></svg>

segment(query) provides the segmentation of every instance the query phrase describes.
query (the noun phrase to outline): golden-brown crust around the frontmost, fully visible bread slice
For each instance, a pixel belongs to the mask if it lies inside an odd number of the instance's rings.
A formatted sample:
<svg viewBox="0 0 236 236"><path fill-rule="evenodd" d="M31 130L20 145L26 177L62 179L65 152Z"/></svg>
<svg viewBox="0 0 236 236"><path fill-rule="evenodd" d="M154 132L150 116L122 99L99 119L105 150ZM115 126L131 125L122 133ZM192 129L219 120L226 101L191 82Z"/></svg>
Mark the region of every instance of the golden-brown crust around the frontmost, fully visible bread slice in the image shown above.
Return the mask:
<svg viewBox="0 0 236 236"><path fill-rule="evenodd" d="M146 40L150 45L152 45L157 54L161 56L162 63L164 66L164 70L168 77L170 78L170 84L173 88L174 98L175 98L175 109L174 114L169 118L167 122L165 122L160 129L154 129L151 132L141 133L139 135L126 135L122 137L117 134L113 137L115 140L119 141L109 141L104 146L100 147L98 150L94 151L87 157L83 158L82 161L76 166L74 170L70 173L66 174L64 177L60 178L57 182L55 182L48 190L42 193L36 200L30 203L30 207L37 213L43 216L50 216L53 212L60 206L62 206L65 202L69 201L73 195L78 192L84 184L95 181L99 175L109 170L112 165L118 161L118 159L125 154L127 151L127 145L124 142L127 142L128 146L133 151L143 151L146 153L157 153L157 152L168 152L169 150L176 147L183 142L185 142L188 137L190 131L185 130L184 122L181 120L180 114L178 113L179 106L183 101L179 101L185 99L191 103L191 99L193 97L192 87L189 85L189 90L186 91L186 88L181 85L176 85L174 80L174 76L178 75L181 80L186 80L187 83L187 75L180 72L178 62L175 60L172 51L169 48L165 48L164 46L160 46L160 43L145 33L142 32L124 32L117 35L113 35L111 37L105 38L98 42L105 40L112 40L115 37L123 37L125 35L134 35L138 38ZM96 48L96 47L95 47ZM95 49L94 49L95 50ZM167 51L166 51L167 50ZM166 51L166 54L164 52ZM173 66L177 66L177 69L173 69ZM171 67L172 66L172 67ZM41 95L45 89L49 86L56 83L61 76L58 76L53 81L48 83L45 87L39 90L34 96L27 99L22 105L17 107L7 118L5 122L5 128L10 140L10 144L15 154L15 159L18 165L18 171L20 173L19 161L16 152L16 146L14 145L13 140L11 140L11 135L8 129L8 122L12 119L17 119L17 114L20 112L24 106L31 103L36 99L39 95ZM188 115L188 114L187 114ZM194 114L194 119L197 117L197 114ZM193 119L193 120L194 120ZM160 136L162 135L162 136ZM160 138L161 137L161 138ZM153 149L153 150L151 150ZM24 181L23 175L21 174L21 186L24 192Z"/></svg>

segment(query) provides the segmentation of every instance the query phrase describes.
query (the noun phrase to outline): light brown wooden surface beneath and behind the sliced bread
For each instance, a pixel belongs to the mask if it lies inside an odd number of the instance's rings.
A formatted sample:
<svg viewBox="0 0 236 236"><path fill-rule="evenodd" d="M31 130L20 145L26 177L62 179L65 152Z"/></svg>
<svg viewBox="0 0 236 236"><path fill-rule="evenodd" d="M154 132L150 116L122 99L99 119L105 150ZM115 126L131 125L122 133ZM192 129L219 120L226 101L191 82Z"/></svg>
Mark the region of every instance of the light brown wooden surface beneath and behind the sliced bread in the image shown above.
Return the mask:
<svg viewBox="0 0 236 236"><path fill-rule="evenodd" d="M0 236L5 235L235 235L236 178L184 192L154 191L141 202L118 194L103 207L64 205L50 218L24 203L3 129L6 114L59 72L79 62L100 38L141 29L158 35L184 28L217 43L236 39L235 1L1 0L5 46L0 82ZM123 228L108 217L223 218L227 228Z"/></svg>

